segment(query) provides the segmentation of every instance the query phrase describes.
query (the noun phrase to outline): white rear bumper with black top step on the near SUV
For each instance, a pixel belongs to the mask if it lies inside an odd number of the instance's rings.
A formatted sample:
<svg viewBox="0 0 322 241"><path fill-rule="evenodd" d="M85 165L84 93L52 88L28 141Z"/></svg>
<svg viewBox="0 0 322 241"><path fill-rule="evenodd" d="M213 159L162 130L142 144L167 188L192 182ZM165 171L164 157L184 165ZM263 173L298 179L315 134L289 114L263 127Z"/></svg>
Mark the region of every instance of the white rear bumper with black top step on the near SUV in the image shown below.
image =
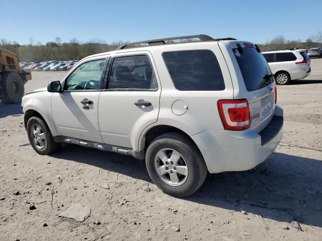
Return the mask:
<svg viewBox="0 0 322 241"><path fill-rule="evenodd" d="M283 133L283 109L276 106L270 124L261 132L252 130L207 130L191 138L199 147L208 171L246 171L265 161L276 149Z"/></svg>

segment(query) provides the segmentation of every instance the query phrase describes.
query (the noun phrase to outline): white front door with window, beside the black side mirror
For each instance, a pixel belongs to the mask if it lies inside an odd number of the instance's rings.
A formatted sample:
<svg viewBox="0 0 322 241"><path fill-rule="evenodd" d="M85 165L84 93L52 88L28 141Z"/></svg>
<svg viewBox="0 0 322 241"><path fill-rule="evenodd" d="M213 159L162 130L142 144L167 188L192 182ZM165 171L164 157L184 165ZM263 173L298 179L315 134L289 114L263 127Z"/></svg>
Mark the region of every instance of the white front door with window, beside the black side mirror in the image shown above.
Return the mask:
<svg viewBox="0 0 322 241"><path fill-rule="evenodd" d="M58 135L102 143L98 125L98 101L105 58L79 65L53 93L52 115Z"/></svg>

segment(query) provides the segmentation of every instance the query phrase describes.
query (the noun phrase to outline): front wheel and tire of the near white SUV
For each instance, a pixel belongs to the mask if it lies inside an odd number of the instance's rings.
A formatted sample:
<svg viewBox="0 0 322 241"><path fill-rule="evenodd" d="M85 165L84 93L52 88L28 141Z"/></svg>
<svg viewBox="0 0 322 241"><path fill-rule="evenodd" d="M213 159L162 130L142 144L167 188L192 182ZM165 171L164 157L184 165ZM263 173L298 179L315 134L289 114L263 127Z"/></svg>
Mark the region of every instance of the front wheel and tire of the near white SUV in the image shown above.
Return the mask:
<svg viewBox="0 0 322 241"><path fill-rule="evenodd" d="M40 130L38 128L40 128ZM36 131L37 134L35 134L34 131ZM49 155L57 151L60 147L60 143L55 142L52 138L47 124L36 116L28 119L27 135L30 145L40 155ZM38 141L35 141L35 138L38 138Z"/></svg>

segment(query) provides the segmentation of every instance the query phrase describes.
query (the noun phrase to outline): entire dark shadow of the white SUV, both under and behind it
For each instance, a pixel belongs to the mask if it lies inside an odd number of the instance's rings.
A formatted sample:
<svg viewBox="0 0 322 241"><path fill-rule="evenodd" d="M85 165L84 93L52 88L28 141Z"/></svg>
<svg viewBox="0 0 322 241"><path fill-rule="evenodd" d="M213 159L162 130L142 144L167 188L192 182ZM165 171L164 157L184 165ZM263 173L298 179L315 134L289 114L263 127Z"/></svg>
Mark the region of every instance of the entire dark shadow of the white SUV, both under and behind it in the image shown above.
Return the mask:
<svg viewBox="0 0 322 241"><path fill-rule="evenodd" d="M151 182L145 162L129 156L67 144L51 156ZM196 193L182 199L322 227L321 177L322 161L274 153L250 171L208 174Z"/></svg>

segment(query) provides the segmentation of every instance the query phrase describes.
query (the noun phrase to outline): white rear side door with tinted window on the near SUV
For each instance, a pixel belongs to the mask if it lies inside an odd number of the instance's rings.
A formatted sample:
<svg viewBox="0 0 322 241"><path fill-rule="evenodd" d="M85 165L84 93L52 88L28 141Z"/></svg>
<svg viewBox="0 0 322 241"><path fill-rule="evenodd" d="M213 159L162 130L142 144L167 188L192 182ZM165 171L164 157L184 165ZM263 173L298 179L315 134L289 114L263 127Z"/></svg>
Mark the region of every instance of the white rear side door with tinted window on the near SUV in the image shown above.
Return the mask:
<svg viewBox="0 0 322 241"><path fill-rule="evenodd" d="M157 121L161 86L148 51L114 54L98 106L105 144L137 149L137 134Z"/></svg>

